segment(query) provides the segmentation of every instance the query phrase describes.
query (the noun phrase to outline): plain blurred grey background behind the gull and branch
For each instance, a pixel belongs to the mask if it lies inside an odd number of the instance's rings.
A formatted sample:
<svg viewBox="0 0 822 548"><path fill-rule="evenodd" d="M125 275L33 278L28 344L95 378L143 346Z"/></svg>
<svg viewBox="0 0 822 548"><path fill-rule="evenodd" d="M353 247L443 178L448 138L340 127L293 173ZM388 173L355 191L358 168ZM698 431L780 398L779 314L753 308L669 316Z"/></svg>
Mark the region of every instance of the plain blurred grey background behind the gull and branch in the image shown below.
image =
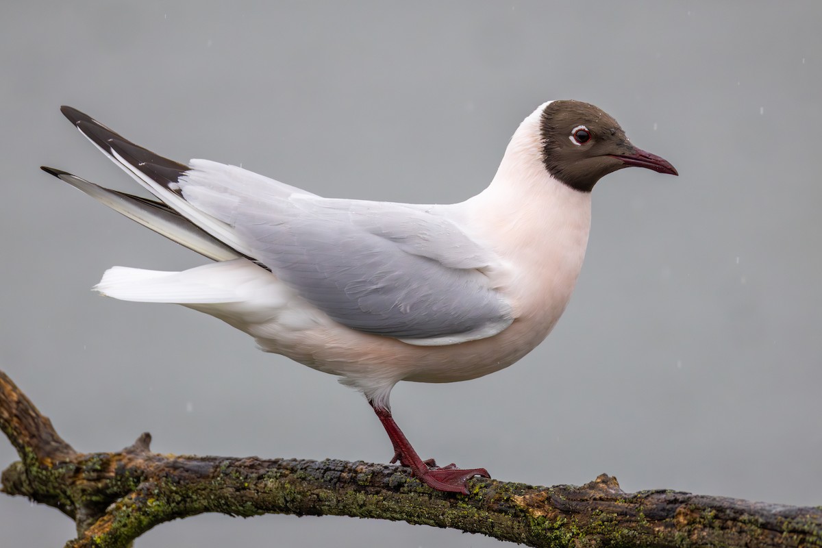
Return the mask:
<svg viewBox="0 0 822 548"><path fill-rule="evenodd" d="M583 99L681 177L594 191L565 317L515 366L399 385L423 456L504 480L822 504L819 2L4 2L0 367L76 449L385 462L358 394L182 307L89 291L201 257L37 169L131 181L60 104L173 159L326 196L452 202L547 99ZM16 460L0 441L0 466ZM0 545L62 546L0 497ZM495 546L404 523L207 515L139 546Z"/></svg>

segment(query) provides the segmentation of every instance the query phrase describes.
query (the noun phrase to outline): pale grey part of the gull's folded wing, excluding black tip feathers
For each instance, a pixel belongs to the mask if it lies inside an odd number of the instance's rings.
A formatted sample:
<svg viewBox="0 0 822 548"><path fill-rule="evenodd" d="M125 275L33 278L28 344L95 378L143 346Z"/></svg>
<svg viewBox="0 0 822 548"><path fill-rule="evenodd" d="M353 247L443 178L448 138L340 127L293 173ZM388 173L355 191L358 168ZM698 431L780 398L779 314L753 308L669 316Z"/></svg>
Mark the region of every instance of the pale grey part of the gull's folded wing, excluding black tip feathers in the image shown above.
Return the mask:
<svg viewBox="0 0 822 548"><path fill-rule="evenodd" d="M192 205L232 226L256 260L352 329L438 345L490 337L513 321L483 274L498 267L496 255L440 215L317 196L241 198L225 208L182 187Z"/></svg>

